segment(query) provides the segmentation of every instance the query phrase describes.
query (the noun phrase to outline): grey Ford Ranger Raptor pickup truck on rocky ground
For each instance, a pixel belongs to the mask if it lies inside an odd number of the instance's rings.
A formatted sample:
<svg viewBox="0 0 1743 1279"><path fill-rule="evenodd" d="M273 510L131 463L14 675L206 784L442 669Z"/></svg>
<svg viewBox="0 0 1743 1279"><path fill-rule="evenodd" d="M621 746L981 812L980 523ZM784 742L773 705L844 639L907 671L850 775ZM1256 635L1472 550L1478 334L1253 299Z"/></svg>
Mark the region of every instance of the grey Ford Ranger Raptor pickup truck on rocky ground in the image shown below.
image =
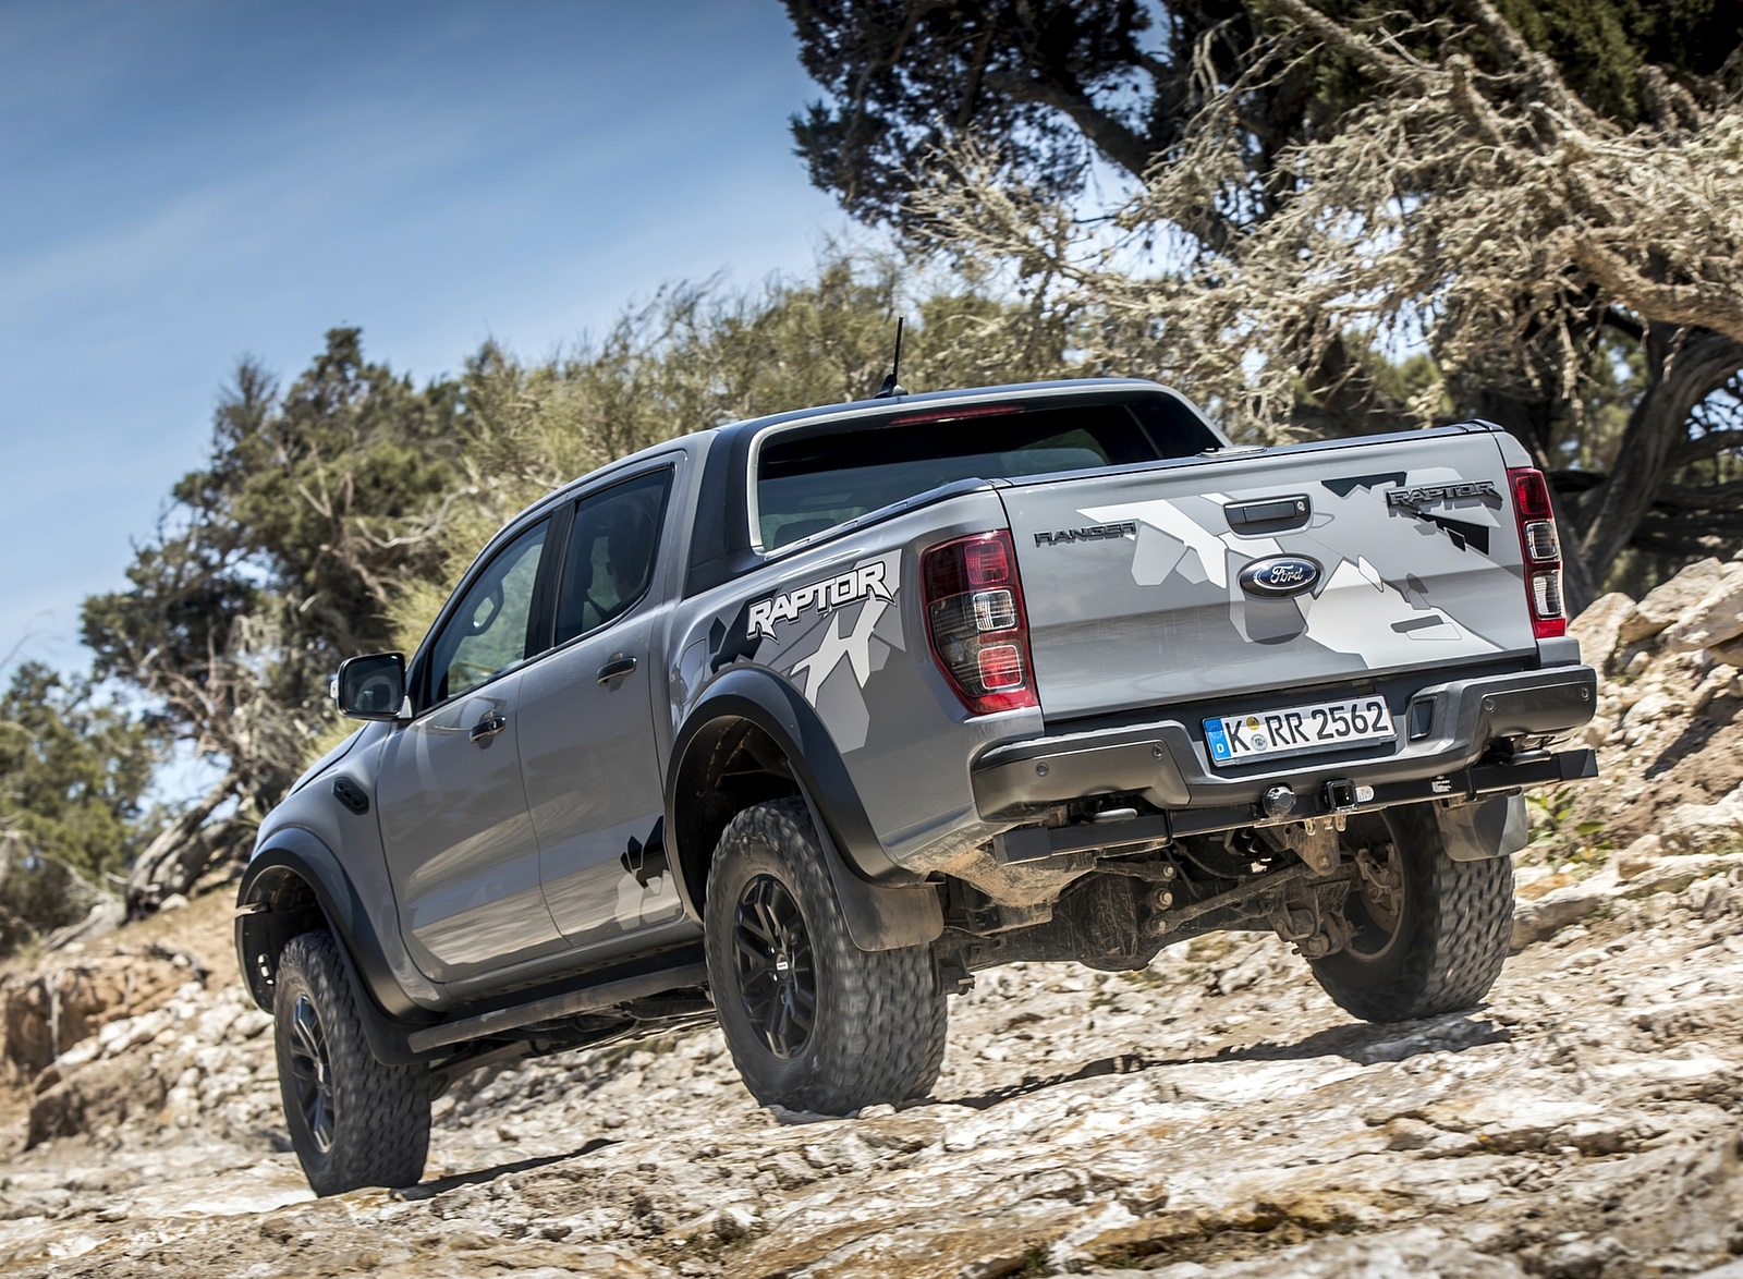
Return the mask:
<svg viewBox="0 0 1743 1279"><path fill-rule="evenodd" d="M1478 1004L1595 706L1497 427L1238 448L1138 380L701 430L551 493L260 828L237 951L321 1194L429 1101L715 1019L763 1105L920 1098L976 969L1274 930Z"/></svg>

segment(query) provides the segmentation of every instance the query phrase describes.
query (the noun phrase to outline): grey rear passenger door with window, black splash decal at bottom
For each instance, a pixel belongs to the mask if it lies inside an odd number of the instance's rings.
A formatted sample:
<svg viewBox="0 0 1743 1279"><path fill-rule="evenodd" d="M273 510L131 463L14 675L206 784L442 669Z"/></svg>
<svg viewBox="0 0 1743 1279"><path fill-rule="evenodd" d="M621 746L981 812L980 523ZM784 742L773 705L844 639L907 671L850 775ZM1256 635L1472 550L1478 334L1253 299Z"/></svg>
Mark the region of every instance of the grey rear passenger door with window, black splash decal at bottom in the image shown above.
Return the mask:
<svg viewBox="0 0 1743 1279"><path fill-rule="evenodd" d="M678 920L662 849L650 591L673 470L575 505L556 591L556 648L525 674L521 770L546 903L577 946Z"/></svg>

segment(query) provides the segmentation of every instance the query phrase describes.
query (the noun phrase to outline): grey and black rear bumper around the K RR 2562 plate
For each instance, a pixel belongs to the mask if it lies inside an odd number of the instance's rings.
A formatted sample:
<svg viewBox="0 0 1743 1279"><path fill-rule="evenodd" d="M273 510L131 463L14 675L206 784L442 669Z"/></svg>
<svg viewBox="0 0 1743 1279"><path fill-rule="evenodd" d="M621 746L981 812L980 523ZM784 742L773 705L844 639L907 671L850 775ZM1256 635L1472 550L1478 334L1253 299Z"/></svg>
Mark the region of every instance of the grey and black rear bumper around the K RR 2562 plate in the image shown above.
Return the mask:
<svg viewBox="0 0 1743 1279"><path fill-rule="evenodd" d="M1023 821L1039 809L1068 800L1140 795L1168 812L1251 809L1246 821L1253 821L1260 796L1281 784L1302 800L1314 800L1292 814L1300 819L1337 810L1319 798L1328 781L1370 788L1372 803L1403 803L1431 795L1476 795L1595 775L1588 772L1593 768L1590 751L1530 751L1513 763L1478 765L1497 739L1553 737L1590 721L1598 700L1597 673L1590 666L1515 671L1429 687L1391 683L1380 692L1398 725L1393 741L1238 767L1211 767L1201 707L1182 707L1175 716L1140 725L1004 742L980 755L969 768L974 805L985 821ZM1288 695L1272 695L1269 702L1255 700L1251 706L1227 700L1206 704L1203 714L1239 714L1300 700ZM1227 822L1236 824L1243 822ZM1197 824L1187 819L1175 826L1185 833Z"/></svg>

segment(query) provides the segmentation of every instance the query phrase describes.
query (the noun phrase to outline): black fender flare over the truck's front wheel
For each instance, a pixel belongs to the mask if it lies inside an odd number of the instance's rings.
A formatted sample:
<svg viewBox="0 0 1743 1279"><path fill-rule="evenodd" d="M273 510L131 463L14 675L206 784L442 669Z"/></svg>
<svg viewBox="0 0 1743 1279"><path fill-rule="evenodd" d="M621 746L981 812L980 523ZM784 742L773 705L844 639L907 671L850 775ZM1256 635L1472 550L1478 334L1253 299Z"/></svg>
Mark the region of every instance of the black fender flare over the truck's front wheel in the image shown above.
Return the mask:
<svg viewBox="0 0 1743 1279"><path fill-rule="evenodd" d="M272 922L274 897L279 887L296 878L309 885L315 906L333 937L357 991L356 1000L364 1039L370 1051L385 1065L408 1065L427 1059L406 1044L406 1035L420 1025L434 1021L434 1014L413 1004L394 979L387 953L370 922L370 915L352 885L345 868L328 845L300 826L286 826L272 833L267 847L248 863L237 885L235 946L237 965L248 981L254 1004L272 1011L270 978L258 971L253 957L274 939L279 929ZM279 944L289 936L277 939Z"/></svg>

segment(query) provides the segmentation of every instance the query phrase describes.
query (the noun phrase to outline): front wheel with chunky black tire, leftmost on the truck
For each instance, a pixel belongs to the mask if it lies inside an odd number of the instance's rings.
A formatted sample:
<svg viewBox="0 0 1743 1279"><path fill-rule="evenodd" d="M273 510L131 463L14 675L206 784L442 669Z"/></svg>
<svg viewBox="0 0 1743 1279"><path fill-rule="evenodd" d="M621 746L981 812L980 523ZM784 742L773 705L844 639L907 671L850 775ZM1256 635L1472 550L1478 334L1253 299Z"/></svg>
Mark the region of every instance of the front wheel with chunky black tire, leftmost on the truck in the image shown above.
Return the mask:
<svg viewBox="0 0 1743 1279"><path fill-rule="evenodd" d="M376 1061L363 1035L357 998L331 932L319 929L291 937L274 978L274 1046L291 1148L317 1195L368 1185L417 1185L429 1155L429 1070ZM309 1014L315 1018L319 1044L310 1040ZM307 1096L307 1066L321 1052L326 1056L324 1113L314 1112ZM305 1096L298 1094L298 1061ZM317 1126L328 1138L324 1150Z"/></svg>

